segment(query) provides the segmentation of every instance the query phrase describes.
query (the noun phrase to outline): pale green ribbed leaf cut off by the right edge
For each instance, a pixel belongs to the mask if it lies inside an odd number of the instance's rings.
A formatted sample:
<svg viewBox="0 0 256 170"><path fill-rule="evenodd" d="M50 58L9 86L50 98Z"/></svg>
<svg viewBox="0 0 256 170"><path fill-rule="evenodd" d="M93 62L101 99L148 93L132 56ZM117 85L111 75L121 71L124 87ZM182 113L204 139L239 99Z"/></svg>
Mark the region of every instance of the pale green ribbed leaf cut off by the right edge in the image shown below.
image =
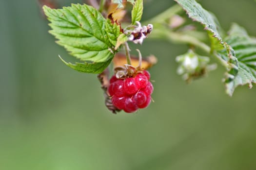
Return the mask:
<svg viewBox="0 0 256 170"><path fill-rule="evenodd" d="M244 28L233 24L225 41L230 64L225 74L225 86L226 92L232 96L238 85L248 84L251 88L252 83L256 83L256 39L250 37Z"/></svg>

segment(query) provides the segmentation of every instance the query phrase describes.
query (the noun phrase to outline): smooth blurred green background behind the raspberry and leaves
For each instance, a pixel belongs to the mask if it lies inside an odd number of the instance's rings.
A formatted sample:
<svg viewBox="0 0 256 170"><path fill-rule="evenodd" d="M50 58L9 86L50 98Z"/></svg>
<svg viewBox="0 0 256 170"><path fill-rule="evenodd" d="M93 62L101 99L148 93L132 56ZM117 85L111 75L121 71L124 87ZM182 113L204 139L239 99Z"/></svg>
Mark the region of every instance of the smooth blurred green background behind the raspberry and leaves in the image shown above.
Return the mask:
<svg viewBox="0 0 256 170"><path fill-rule="evenodd" d="M175 4L148 0L143 19ZM59 0L61 5L81 0ZM201 0L225 30L256 35L254 0ZM0 170L256 170L256 89L230 98L219 66L186 85L175 57L185 45L145 40L155 54L154 103L135 114L104 106L96 75L66 67L72 57L48 34L35 0L0 0Z"/></svg>

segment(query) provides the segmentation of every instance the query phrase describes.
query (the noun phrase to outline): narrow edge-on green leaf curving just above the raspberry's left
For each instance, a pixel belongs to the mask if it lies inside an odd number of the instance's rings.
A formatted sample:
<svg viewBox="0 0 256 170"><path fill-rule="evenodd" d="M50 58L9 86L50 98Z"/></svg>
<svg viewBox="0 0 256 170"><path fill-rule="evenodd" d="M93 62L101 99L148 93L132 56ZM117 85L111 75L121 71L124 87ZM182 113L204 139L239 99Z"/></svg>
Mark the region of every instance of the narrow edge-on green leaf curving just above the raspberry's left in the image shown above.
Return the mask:
<svg viewBox="0 0 256 170"><path fill-rule="evenodd" d="M102 71L104 71L105 68L107 68L108 65L110 64L110 62L112 61L112 59L109 59L106 62L100 62L100 63L86 63L86 62L84 62L84 63L72 64L72 63L67 63L60 56L59 56L59 58L68 67L73 68L73 69L75 69L75 70L77 70L79 72L95 73L95 74L99 74Z"/></svg>

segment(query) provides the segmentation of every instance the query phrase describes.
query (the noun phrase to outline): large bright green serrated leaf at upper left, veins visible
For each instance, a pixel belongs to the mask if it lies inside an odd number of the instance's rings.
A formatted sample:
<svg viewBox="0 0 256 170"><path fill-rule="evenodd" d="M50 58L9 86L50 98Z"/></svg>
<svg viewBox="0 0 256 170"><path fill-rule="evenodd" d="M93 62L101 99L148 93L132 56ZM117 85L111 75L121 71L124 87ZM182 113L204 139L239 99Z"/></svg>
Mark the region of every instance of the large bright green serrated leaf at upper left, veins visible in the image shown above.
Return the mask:
<svg viewBox="0 0 256 170"><path fill-rule="evenodd" d="M43 6L57 43L82 61L105 62L114 57L106 19L92 6L72 4L63 9ZM110 29L107 29L110 32Z"/></svg>

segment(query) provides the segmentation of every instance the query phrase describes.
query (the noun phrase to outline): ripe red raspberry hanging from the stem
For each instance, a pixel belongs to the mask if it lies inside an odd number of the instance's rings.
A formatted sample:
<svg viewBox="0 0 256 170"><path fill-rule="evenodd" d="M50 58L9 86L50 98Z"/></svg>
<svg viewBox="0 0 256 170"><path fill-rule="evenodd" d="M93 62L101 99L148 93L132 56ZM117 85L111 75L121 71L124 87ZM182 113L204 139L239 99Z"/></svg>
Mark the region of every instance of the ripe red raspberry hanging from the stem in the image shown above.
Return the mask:
<svg viewBox="0 0 256 170"><path fill-rule="evenodd" d="M113 105L127 113L147 107L151 102L151 94L154 90L149 80L150 74L146 70L138 73L135 77L125 79L117 79L115 75L112 76L108 93Z"/></svg>

